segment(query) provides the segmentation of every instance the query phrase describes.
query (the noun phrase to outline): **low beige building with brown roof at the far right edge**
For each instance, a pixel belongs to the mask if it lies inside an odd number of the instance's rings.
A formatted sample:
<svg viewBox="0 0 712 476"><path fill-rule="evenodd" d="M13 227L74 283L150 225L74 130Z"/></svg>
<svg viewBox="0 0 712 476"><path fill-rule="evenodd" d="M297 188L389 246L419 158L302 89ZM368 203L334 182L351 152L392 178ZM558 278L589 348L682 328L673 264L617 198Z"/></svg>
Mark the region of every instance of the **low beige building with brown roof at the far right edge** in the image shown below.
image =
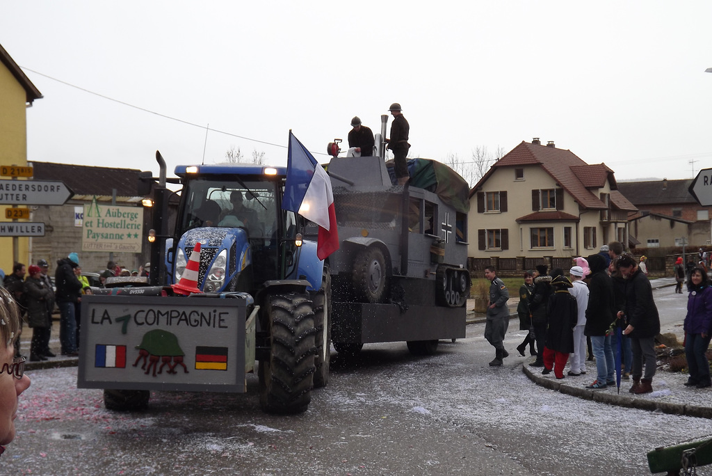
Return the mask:
<svg viewBox="0 0 712 476"><path fill-rule="evenodd" d="M692 179L619 184L619 192L638 209L628 218L639 247L679 247L684 243L696 249L710 244L712 207L696 202L689 192L691 184Z"/></svg>

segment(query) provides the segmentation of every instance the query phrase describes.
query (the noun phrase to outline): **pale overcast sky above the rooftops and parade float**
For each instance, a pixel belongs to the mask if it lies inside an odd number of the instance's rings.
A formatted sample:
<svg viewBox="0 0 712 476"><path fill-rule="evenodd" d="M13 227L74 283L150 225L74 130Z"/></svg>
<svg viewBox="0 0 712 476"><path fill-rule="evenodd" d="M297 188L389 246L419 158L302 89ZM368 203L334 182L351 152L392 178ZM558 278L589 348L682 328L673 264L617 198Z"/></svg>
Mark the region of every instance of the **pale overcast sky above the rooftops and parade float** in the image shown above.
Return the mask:
<svg viewBox="0 0 712 476"><path fill-rule="evenodd" d="M412 157L539 137L617 180L681 179L712 167L711 19L708 0L0 0L0 44L44 96L28 160L284 165L291 129L328 162L353 115L377 132L399 102Z"/></svg>

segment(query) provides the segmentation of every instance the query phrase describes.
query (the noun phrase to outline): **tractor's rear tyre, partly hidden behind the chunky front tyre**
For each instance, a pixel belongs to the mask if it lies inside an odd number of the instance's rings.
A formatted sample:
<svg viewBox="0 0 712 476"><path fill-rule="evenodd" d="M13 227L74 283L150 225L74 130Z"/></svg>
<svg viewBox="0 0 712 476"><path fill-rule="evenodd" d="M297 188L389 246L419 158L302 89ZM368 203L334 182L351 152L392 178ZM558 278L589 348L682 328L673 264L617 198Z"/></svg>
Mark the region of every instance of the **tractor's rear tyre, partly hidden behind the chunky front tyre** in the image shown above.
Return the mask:
<svg viewBox="0 0 712 476"><path fill-rule="evenodd" d="M321 289L314 296L314 327L317 351L314 357L314 388L320 388L329 383L331 363L331 274L326 265L321 279Z"/></svg>

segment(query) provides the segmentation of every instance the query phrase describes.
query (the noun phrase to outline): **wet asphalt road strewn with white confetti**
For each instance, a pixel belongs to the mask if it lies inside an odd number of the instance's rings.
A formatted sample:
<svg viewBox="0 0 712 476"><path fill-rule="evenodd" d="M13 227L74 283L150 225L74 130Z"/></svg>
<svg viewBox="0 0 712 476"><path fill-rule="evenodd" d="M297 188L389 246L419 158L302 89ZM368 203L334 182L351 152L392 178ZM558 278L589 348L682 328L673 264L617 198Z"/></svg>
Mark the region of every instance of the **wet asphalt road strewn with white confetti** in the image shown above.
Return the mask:
<svg viewBox="0 0 712 476"><path fill-rule="evenodd" d="M664 328L676 330L686 300L666 289L658 298ZM515 327L508 348L523 338ZM644 475L647 451L712 433L709 420L535 386L521 371L530 359L514 353L491 368L483 330L468 326L432 357L404 343L335 355L329 385L291 417L261 413L254 376L246 394L154 393L145 412L115 413L100 390L75 388L76 368L33 371L3 473Z"/></svg>

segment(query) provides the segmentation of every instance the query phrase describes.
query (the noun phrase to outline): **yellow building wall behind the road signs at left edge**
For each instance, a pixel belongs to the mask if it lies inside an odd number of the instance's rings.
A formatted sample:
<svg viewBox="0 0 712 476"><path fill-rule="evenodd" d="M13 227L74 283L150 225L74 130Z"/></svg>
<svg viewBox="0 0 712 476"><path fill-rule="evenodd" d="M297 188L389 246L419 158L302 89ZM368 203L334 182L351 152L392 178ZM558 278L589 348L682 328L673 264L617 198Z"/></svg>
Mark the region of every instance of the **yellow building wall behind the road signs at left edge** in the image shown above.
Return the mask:
<svg viewBox="0 0 712 476"><path fill-rule="evenodd" d="M0 63L0 165L27 165L26 98L25 89ZM11 221L5 218L5 209L8 207L10 206L0 205L0 222ZM28 238L14 240L12 237L0 237L0 268L5 274L12 272L14 241L18 245L18 261L27 266L31 264L28 263Z"/></svg>

